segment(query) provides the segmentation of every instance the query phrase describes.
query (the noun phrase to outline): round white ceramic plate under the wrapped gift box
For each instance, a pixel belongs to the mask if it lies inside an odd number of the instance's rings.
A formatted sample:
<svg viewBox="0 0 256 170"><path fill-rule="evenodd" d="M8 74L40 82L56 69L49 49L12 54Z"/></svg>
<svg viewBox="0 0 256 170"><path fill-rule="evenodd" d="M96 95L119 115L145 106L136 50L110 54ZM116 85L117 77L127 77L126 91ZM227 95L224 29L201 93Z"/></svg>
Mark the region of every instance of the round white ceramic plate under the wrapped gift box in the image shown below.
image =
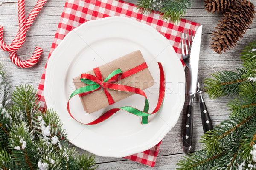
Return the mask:
<svg viewBox="0 0 256 170"><path fill-rule="evenodd" d="M75 90L72 79L132 51L140 50L155 85L145 90L150 113L157 105L159 68L163 64L166 96L158 113L142 125L141 118L118 111L98 125L82 125L67 112ZM70 31L50 57L44 83L47 108L53 108L63 123L69 141L99 156L124 157L154 147L176 124L185 98L185 74L172 45L157 30L126 17L108 17L86 22ZM110 108L134 106L143 110L145 99L133 95L100 111L87 114L78 96L70 101L73 116L92 122ZM154 119L153 119L154 118Z"/></svg>

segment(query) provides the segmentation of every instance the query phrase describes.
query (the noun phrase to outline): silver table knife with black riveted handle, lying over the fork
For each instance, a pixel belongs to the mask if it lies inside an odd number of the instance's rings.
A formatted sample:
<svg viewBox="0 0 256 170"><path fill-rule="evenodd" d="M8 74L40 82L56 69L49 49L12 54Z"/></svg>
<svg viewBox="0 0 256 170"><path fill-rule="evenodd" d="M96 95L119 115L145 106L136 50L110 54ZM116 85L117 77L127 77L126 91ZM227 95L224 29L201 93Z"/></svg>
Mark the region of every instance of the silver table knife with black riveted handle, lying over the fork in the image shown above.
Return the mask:
<svg viewBox="0 0 256 170"><path fill-rule="evenodd" d="M183 151L185 154L188 154L190 152L191 146L192 146L193 116L194 116L193 102L194 102L195 94L197 91L198 64L199 64L202 28L203 26L201 25L197 29L195 33L195 37L193 38L191 51L190 51L189 72L187 77L188 105L186 108L185 127L183 130Z"/></svg>

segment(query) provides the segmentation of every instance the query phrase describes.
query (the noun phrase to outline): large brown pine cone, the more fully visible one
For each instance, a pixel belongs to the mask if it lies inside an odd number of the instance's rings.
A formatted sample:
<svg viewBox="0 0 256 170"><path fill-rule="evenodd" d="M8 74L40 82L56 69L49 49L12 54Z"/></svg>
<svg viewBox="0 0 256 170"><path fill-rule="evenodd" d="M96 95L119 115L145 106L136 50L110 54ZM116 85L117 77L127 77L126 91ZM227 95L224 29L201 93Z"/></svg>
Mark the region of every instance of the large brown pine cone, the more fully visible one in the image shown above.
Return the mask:
<svg viewBox="0 0 256 170"><path fill-rule="evenodd" d="M239 0L230 6L228 11L215 27L211 42L211 48L221 54L222 51L226 52L226 49L233 48L239 41L239 37L242 38L243 34L254 18L254 6L253 3L247 0Z"/></svg>

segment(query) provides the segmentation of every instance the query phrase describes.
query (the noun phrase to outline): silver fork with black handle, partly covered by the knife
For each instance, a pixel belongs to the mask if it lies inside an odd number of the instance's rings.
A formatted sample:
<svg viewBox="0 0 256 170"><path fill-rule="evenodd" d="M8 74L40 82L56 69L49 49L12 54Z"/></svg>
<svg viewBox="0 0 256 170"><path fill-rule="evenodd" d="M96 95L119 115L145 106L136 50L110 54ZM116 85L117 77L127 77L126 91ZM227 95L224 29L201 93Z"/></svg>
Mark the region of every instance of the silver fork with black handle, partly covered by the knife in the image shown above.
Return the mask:
<svg viewBox="0 0 256 170"><path fill-rule="evenodd" d="M191 48L191 44L193 41L193 34L192 34L192 30L190 30L190 35L191 35L191 42L189 40L189 31L187 31L187 37L188 39L186 39L186 33L184 31L184 39L185 39L185 45L183 44L183 40L182 40L182 32L180 32L180 37L181 37L181 52L182 52L182 58L183 61L186 65L186 67L189 68L189 54L190 54L190 48ZM188 40L188 45L186 43L186 41ZM185 46L185 50L184 50L184 46ZM186 51L186 55L185 55L185 51ZM212 126L212 121L211 118L209 116L209 113L207 111L205 102L204 102L204 98L203 98L203 91L200 88L200 83L198 82L197 84L198 90L197 90L197 94L198 94L198 98L199 98L199 102L200 102L200 110L201 110L201 118L202 118L202 125L203 125L203 129L204 129L204 133L206 133L209 130L213 129Z"/></svg>

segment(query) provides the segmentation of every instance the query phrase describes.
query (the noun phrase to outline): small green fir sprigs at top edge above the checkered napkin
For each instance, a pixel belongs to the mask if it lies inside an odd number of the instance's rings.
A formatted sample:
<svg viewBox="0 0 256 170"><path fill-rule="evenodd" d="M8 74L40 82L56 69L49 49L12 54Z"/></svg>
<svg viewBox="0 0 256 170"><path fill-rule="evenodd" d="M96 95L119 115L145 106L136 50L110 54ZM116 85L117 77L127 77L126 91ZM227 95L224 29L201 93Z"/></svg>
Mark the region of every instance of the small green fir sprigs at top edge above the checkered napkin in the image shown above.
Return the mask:
<svg viewBox="0 0 256 170"><path fill-rule="evenodd" d="M188 8L191 7L192 0L138 0L137 9L146 12L160 11L162 18L172 23L180 21L184 17Z"/></svg>

